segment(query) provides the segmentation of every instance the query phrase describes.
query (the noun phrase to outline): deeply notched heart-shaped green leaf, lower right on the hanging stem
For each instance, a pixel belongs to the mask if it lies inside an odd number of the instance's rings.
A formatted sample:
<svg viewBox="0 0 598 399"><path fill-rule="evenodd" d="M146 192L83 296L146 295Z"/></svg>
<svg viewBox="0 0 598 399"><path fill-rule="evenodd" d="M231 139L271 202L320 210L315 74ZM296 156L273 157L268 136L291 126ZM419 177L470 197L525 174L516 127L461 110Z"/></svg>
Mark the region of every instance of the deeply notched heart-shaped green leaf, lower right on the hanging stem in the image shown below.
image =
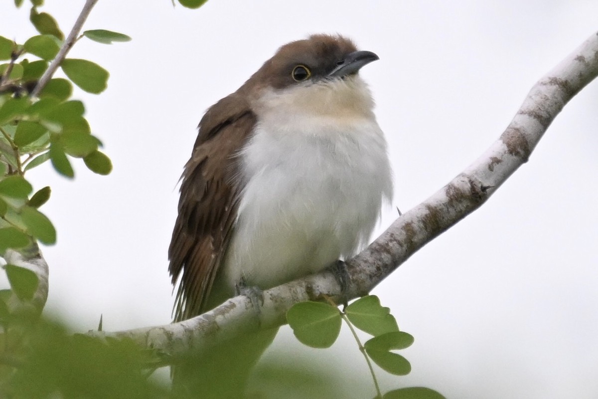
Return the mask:
<svg viewBox="0 0 598 399"><path fill-rule="evenodd" d="M405 349L413 343L413 336L402 331L382 334L365 343L365 352L383 370L397 376L404 376L411 371L411 364L393 349Z"/></svg>

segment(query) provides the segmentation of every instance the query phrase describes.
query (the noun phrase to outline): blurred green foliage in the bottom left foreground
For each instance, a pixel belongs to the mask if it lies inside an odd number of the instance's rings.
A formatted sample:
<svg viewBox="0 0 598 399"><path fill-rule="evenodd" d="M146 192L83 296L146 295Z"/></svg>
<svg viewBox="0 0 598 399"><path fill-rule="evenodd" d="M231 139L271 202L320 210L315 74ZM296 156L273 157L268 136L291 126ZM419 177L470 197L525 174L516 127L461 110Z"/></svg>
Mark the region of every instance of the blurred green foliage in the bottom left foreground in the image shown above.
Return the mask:
<svg viewBox="0 0 598 399"><path fill-rule="evenodd" d="M130 340L73 335L48 320L10 331L0 336L2 345L11 348L0 361L2 398L168 396L166 387L148 379L154 354Z"/></svg>

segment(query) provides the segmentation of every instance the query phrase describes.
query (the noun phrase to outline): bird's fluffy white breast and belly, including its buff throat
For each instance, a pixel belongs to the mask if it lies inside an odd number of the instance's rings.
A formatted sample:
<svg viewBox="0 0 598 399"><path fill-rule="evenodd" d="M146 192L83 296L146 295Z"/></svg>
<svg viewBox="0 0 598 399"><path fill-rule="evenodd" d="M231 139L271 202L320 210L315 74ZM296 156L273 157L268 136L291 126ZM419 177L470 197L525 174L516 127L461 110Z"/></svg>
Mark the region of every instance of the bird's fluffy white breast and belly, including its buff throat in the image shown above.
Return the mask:
<svg viewBox="0 0 598 399"><path fill-rule="evenodd" d="M335 85L261 99L257 130L240 153L246 186L222 270L228 287L241 278L274 287L367 244L392 196L386 142L361 79ZM362 112L330 109L335 96L346 101L356 90L369 106L347 104Z"/></svg>

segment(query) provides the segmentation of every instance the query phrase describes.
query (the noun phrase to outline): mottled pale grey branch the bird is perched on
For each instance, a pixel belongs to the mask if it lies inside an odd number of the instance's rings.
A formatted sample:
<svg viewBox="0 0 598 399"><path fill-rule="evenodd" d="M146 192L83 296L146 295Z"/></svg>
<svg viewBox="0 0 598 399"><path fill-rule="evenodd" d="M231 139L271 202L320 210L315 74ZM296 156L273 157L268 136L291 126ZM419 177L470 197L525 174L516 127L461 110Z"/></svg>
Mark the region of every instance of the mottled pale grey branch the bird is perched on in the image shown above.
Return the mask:
<svg viewBox="0 0 598 399"><path fill-rule="evenodd" d="M598 33L594 33L532 87L507 129L482 156L347 261L349 297L368 293L423 245L486 202L527 162L563 106L597 75ZM129 337L174 358L190 351L201 354L217 342L260 326L284 324L286 311L295 303L338 293L340 287L334 276L322 272L264 291L264 304L259 310L247 298L235 297L208 313L176 324L91 334Z"/></svg>

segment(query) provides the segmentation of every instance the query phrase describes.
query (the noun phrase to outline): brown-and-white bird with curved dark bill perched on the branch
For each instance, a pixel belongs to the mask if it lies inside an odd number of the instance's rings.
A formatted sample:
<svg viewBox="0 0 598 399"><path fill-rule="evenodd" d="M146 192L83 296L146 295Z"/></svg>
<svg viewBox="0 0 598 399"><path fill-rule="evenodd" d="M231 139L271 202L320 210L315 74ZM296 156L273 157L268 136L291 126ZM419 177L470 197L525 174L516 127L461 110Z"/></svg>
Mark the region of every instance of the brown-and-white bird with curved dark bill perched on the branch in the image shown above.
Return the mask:
<svg viewBox="0 0 598 399"><path fill-rule="evenodd" d="M378 59L345 36L310 35L208 108L169 247L175 322L367 245L393 193L388 145L359 76Z"/></svg>

